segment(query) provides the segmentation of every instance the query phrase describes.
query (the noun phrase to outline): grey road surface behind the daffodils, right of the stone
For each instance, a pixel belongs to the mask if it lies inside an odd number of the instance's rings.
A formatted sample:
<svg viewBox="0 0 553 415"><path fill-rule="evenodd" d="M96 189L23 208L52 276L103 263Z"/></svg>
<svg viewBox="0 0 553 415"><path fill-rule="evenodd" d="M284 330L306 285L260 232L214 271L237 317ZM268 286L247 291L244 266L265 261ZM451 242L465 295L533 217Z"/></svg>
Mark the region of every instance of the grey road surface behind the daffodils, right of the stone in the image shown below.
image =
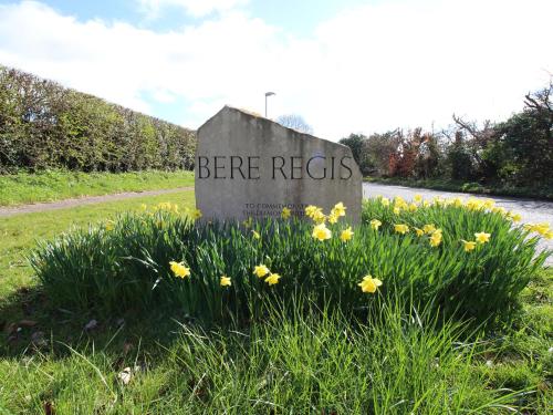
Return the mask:
<svg viewBox="0 0 553 415"><path fill-rule="evenodd" d="M441 191L441 190L428 190L428 189L419 189L405 186L379 185L375 183L363 184L363 197L375 197L382 195L388 198L394 198L396 196L401 196L404 199L409 200L413 199L413 197L416 194L422 195L425 199L431 199L435 196L442 196L442 197L459 196L465 198L473 196L478 198L493 199L495 200L497 206L502 206L508 210L521 214L523 222L547 222L551 226L553 226L553 201L470 195L470 194ZM540 241L540 248L553 250L553 240L542 239ZM553 266L553 257L550 257L547 259L547 264Z"/></svg>

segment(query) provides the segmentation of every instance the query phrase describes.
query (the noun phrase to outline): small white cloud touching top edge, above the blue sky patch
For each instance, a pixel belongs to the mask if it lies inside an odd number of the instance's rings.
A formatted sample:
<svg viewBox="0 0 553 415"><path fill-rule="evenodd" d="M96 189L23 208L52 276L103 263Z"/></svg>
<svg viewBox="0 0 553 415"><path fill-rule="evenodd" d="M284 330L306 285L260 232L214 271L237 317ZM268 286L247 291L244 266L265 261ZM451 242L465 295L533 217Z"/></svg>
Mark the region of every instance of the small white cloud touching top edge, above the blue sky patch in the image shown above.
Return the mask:
<svg viewBox="0 0 553 415"><path fill-rule="evenodd" d="M142 10L149 17L156 17L164 8L181 8L188 14L202 17L212 12L229 11L242 6L248 0L137 0Z"/></svg>

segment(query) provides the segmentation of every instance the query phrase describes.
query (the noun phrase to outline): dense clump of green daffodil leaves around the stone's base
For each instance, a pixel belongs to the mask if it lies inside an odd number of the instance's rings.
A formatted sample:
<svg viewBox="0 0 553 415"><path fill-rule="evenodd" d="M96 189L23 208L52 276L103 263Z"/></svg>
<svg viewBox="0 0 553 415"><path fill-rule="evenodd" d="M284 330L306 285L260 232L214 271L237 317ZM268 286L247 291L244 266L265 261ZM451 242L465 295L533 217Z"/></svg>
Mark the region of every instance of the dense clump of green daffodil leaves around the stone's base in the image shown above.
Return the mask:
<svg viewBox="0 0 553 415"><path fill-rule="evenodd" d="M347 241L338 238L344 224L330 225L333 236L325 239L323 232L317 240L313 226L298 219L247 228L250 224L194 222L174 210L161 206L69 232L43 243L32 266L59 305L106 313L167 307L206 321L250 320L263 315L264 299L285 302L300 294L321 308L365 314L399 295L444 315L483 321L517 305L518 293L547 256L536 256L538 238L529 238L538 228L512 227L499 209L486 210L474 200L388 206L385 199L369 200ZM373 229L373 219L382 221L379 229ZM430 224L441 231L417 236L415 228L422 234ZM409 230L401 235L395 225ZM490 241L465 251L462 240L482 231ZM176 277L171 261L190 276ZM280 280L269 284L267 276L258 278L259 264ZM383 281L374 294L358 287L367 274ZM222 276L231 278L230 287L220 286Z"/></svg>

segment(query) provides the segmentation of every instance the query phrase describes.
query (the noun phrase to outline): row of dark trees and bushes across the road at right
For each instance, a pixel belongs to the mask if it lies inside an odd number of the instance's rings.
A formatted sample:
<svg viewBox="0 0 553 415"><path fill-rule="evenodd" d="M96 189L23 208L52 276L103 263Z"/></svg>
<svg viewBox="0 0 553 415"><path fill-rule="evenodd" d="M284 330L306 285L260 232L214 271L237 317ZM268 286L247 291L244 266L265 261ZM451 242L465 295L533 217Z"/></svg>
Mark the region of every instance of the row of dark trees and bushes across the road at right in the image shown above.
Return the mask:
<svg viewBox="0 0 553 415"><path fill-rule="evenodd" d="M528 94L522 112L479 125L453 115L441 132L395 129L351 135L364 175L428 179L448 177L494 187L550 186L553 175L553 84ZM352 139L354 137L355 139Z"/></svg>

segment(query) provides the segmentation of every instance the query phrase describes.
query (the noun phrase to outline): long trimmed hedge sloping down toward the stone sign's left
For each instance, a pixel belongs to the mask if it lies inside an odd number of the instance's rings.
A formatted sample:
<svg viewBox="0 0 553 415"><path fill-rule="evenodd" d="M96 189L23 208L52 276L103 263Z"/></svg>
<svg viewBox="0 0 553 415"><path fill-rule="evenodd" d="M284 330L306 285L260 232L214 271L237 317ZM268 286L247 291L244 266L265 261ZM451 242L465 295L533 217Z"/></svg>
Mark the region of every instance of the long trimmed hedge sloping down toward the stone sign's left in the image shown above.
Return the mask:
<svg viewBox="0 0 553 415"><path fill-rule="evenodd" d="M192 131L0 65L0 173L192 169L195 148Z"/></svg>

